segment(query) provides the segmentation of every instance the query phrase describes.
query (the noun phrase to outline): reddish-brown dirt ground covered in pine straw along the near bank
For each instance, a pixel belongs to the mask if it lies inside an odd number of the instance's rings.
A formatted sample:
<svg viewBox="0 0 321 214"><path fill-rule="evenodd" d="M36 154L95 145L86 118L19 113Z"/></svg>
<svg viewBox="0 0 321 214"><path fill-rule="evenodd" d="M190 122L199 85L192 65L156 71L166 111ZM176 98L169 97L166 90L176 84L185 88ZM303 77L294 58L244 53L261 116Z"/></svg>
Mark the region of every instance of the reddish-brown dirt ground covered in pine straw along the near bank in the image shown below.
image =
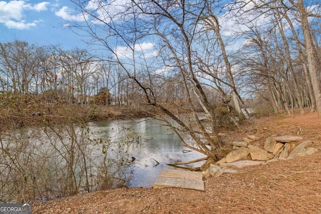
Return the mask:
<svg viewBox="0 0 321 214"><path fill-rule="evenodd" d="M180 188L118 188L33 203L33 213L321 213L321 119L316 113L256 120L264 131L230 132L226 146L244 135L301 136L312 155L248 166L205 180L205 191ZM292 147L294 147L294 145Z"/></svg>

